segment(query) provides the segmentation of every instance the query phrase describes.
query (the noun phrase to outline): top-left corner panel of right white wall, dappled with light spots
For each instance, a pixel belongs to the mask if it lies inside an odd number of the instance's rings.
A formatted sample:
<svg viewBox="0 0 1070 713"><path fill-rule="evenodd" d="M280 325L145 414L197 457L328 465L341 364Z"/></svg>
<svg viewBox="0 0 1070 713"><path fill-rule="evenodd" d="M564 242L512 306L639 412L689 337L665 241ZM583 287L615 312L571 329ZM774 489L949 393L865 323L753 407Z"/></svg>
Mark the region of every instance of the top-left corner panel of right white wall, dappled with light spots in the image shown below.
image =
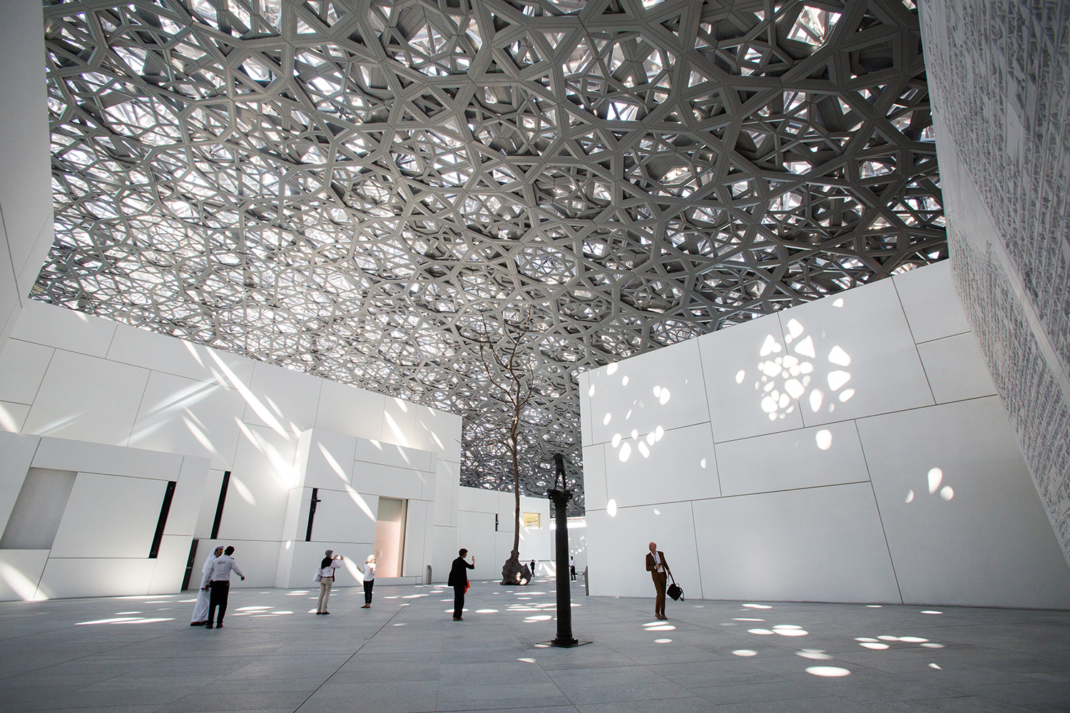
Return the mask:
<svg viewBox="0 0 1070 713"><path fill-rule="evenodd" d="M709 420L693 340L588 373L594 386L590 397L594 443L633 430L645 434L658 427L668 430Z"/></svg>

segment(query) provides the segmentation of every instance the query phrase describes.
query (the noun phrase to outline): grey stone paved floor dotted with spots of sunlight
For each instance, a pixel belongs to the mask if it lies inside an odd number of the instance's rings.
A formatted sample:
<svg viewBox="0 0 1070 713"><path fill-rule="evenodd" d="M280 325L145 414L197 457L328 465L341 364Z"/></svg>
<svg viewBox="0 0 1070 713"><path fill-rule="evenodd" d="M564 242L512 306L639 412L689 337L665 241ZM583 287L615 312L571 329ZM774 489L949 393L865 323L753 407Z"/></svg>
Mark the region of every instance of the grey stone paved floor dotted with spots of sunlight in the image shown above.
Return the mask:
<svg viewBox="0 0 1070 713"><path fill-rule="evenodd" d="M575 591L575 590L574 590ZM226 627L190 594L0 604L0 713L1070 711L1070 613L584 598L553 585L238 589Z"/></svg>

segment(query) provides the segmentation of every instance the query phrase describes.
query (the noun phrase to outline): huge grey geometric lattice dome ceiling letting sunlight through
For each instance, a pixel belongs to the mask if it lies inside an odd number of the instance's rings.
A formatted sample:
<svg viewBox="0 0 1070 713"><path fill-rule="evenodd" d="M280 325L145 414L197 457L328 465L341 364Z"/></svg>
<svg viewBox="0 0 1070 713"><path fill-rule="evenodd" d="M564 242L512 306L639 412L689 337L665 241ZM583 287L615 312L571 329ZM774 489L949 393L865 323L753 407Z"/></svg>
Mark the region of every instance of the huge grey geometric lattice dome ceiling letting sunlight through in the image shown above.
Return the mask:
<svg viewBox="0 0 1070 713"><path fill-rule="evenodd" d="M526 492L577 374L947 257L911 0L45 9L34 297L465 416L530 315ZM578 499L582 509L582 496Z"/></svg>

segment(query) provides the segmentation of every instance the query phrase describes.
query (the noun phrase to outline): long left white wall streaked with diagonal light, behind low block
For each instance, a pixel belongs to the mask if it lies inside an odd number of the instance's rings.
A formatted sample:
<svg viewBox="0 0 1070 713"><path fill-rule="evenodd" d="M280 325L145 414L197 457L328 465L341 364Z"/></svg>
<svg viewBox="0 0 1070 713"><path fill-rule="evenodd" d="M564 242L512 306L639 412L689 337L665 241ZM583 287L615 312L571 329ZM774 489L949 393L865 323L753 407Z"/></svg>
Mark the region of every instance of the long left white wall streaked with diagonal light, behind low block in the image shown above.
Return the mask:
<svg viewBox="0 0 1070 713"><path fill-rule="evenodd" d="M80 312L27 303L0 352L0 430L207 459L198 567L230 470L218 539L243 586L306 586L332 545L363 561L367 514L347 485L372 515L380 495L411 499L407 577L426 576L439 540L456 549L460 417ZM305 543L314 486L330 492Z"/></svg>

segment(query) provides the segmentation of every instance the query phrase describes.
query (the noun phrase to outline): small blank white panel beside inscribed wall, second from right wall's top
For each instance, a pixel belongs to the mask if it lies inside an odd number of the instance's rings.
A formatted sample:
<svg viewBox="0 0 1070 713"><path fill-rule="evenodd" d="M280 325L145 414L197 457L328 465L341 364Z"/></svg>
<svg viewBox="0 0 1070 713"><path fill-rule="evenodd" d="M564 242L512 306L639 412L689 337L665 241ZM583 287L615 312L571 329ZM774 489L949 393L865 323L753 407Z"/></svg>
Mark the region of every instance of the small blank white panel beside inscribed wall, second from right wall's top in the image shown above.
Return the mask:
<svg viewBox="0 0 1070 713"><path fill-rule="evenodd" d="M936 403L996 392L981 347L972 331L918 344L918 354Z"/></svg>

